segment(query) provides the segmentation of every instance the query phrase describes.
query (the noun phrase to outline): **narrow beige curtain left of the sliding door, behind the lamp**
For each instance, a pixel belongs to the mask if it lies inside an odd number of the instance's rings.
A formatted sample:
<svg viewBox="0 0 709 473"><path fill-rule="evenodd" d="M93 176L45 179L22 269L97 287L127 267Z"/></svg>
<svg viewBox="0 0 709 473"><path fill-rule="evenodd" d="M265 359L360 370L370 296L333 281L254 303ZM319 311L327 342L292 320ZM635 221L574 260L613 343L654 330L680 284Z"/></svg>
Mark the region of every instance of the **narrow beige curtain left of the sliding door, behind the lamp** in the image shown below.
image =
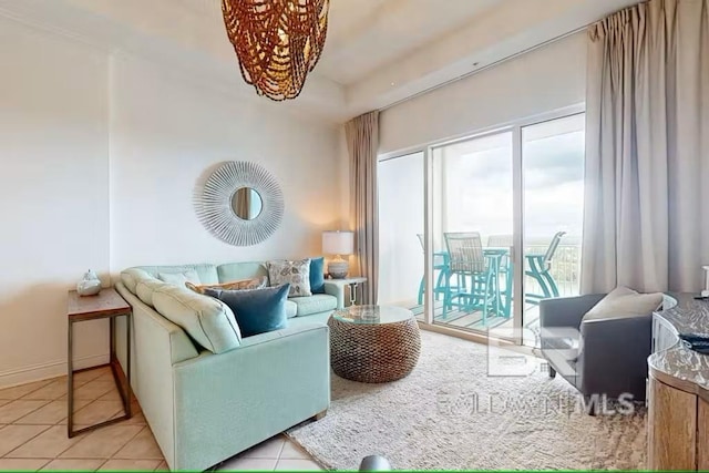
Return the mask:
<svg viewBox="0 0 709 473"><path fill-rule="evenodd" d="M379 112L370 112L345 125L350 155L350 225L359 274L367 278L363 304L377 304L379 285L379 212L377 197L377 150Z"/></svg>

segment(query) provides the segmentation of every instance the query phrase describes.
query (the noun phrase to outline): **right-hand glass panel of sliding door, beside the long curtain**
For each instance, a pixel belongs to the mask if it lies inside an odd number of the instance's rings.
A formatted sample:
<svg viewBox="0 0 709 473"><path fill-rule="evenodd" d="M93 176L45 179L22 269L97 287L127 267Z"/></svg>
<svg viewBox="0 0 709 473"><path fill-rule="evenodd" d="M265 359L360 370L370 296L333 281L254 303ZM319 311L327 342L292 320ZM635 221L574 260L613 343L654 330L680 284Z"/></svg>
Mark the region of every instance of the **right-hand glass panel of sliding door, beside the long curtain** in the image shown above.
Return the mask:
<svg viewBox="0 0 709 473"><path fill-rule="evenodd" d="M525 345L536 345L542 299L578 295L584 138L583 113L522 127Z"/></svg>

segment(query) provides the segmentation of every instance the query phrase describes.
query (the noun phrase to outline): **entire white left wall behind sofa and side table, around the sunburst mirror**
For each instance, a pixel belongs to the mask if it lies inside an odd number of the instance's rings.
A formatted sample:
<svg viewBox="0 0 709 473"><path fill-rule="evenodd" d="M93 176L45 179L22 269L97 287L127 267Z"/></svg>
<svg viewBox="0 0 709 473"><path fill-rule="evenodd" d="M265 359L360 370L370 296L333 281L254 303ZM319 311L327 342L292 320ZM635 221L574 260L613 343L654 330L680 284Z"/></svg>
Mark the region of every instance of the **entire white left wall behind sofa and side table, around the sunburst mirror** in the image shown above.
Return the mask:
<svg viewBox="0 0 709 473"><path fill-rule="evenodd" d="M88 268L109 284L131 265L319 254L345 222L339 127L3 18L0 76L0 388L65 373L66 291ZM232 160L282 186L261 245L223 244L194 213L198 179ZM78 326L76 359L106 359L106 327Z"/></svg>

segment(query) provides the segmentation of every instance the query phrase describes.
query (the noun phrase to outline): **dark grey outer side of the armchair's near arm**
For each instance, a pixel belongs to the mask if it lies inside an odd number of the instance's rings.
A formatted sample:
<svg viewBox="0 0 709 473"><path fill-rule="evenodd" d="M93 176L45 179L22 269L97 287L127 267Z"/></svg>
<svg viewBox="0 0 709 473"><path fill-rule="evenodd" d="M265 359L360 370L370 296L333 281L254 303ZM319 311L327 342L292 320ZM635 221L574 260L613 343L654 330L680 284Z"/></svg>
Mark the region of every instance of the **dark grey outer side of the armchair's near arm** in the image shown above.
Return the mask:
<svg viewBox="0 0 709 473"><path fill-rule="evenodd" d="M645 399L647 358L653 345L653 316L608 317L584 321L584 349L578 357L579 389L585 394L624 392Z"/></svg>

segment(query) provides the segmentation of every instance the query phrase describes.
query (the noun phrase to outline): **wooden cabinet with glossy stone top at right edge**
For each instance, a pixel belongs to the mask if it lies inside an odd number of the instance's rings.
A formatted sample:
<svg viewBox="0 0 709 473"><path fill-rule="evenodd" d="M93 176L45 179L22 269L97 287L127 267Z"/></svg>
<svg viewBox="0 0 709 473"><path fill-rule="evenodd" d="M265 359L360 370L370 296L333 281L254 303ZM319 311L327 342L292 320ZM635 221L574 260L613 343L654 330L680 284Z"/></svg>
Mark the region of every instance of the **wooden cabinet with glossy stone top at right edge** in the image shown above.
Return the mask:
<svg viewBox="0 0 709 473"><path fill-rule="evenodd" d="M709 356L685 348L678 333L709 333L709 302L691 295L653 316L648 358L649 470L709 470Z"/></svg>

